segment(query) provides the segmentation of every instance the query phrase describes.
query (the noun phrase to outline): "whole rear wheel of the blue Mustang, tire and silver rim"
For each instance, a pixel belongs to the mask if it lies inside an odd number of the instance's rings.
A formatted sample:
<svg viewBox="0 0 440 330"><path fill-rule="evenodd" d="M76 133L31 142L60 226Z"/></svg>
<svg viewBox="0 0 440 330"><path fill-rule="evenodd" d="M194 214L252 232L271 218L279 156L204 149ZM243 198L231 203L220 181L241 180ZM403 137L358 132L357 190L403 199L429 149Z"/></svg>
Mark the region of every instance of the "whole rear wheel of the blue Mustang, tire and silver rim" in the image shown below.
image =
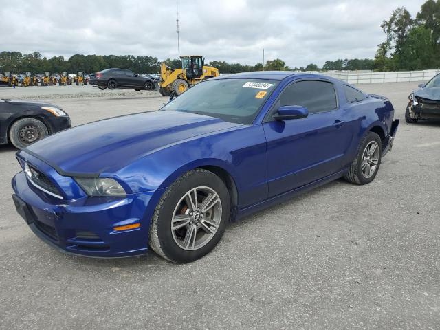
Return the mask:
<svg viewBox="0 0 440 330"><path fill-rule="evenodd" d="M382 160L382 141L380 136L369 132L360 142L358 153L351 163L345 179L352 184L369 184L377 175Z"/></svg>

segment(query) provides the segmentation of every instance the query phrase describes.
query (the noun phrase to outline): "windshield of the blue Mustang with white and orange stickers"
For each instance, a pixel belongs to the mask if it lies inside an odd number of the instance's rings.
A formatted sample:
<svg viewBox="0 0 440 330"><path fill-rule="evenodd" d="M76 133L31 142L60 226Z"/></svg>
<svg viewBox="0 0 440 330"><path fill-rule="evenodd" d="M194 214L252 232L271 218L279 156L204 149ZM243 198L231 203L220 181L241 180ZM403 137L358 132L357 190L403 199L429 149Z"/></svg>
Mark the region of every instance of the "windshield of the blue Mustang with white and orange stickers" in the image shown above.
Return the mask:
<svg viewBox="0 0 440 330"><path fill-rule="evenodd" d="M206 80L188 89L162 110L198 113L226 122L252 124L276 85L276 80Z"/></svg>

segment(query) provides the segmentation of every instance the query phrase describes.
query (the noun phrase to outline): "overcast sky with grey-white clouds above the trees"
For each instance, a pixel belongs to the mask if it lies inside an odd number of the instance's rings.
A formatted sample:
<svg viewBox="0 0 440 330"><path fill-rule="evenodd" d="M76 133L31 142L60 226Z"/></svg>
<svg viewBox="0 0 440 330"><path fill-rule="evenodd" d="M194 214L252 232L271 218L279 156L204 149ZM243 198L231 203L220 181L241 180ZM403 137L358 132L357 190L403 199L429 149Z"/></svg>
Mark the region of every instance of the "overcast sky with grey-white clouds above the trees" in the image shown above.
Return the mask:
<svg viewBox="0 0 440 330"><path fill-rule="evenodd" d="M373 58L380 24L425 0L179 0L181 54L290 67ZM175 0L1 1L0 51L177 57Z"/></svg>

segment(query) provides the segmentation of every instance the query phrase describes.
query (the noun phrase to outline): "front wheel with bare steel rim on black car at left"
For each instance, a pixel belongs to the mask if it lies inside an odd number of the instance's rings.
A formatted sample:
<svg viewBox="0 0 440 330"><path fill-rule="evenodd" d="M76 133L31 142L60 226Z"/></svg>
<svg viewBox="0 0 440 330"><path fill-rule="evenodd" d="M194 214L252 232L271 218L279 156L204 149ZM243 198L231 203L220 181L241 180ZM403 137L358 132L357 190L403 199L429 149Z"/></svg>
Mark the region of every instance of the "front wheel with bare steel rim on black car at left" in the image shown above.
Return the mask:
<svg viewBox="0 0 440 330"><path fill-rule="evenodd" d="M19 149L49 135L46 125L36 118L21 118L9 129L10 142Z"/></svg>

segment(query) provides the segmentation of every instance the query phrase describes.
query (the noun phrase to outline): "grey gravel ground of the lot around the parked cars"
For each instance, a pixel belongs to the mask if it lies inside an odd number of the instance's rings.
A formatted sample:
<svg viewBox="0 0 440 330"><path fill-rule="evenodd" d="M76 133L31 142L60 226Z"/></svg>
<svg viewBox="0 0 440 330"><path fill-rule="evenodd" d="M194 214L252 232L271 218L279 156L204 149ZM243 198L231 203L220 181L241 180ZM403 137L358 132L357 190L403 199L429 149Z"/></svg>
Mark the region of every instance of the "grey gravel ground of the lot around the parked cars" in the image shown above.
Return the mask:
<svg viewBox="0 0 440 330"><path fill-rule="evenodd" d="M360 88L391 98L403 119L417 85ZM157 92L39 89L74 125L166 102ZM334 181L230 225L208 256L173 265L45 245L14 210L19 166L0 146L0 329L440 329L439 148L440 122L403 121L372 184Z"/></svg>

